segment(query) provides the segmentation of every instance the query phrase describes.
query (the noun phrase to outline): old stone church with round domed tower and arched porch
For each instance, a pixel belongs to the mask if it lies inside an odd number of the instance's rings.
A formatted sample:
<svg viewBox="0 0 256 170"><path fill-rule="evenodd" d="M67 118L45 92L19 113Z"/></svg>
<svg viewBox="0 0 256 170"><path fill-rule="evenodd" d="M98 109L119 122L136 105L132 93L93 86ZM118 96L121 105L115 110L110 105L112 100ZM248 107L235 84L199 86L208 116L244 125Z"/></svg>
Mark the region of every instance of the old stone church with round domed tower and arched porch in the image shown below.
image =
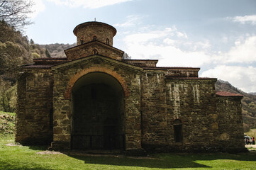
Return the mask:
<svg viewBox="0 0 256 170"><path fill-rule="evenodd" d="M241 99L193 67L127 60L116 28L86 22L64 58L38 58L18 78L16 142L52 149L237 152Z"/></svg>

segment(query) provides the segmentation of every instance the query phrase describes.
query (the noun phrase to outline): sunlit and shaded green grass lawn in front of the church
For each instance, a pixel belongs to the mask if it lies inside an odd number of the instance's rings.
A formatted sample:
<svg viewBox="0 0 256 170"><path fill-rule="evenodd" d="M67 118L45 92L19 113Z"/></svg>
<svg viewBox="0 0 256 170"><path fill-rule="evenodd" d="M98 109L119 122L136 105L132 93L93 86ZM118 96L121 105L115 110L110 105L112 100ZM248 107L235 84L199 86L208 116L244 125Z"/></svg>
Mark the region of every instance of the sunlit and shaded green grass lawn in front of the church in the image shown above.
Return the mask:
<svg viewBox="0 0 256 170"><path fill-rule="evenodd" d="M154 159L36 154L46 147L6 146L13 135L0 138L0 169L255 169L256 154L155 154Z"/></svg>

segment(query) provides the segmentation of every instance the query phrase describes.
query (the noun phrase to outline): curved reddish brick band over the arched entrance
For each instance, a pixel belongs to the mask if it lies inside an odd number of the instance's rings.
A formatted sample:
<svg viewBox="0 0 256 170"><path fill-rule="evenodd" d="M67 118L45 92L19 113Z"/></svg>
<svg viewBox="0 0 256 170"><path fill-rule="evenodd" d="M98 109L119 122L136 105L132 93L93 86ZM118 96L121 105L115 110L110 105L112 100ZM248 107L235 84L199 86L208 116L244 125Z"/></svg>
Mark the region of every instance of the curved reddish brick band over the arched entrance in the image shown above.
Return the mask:
<svg viewBox="0 0 256 170"><path fill-rule="evenodd" d="M111 69L107 69L106 67L89 67L87 69L83 69L82 71L75 74L71 79L69 79L69 83L67 84L67 89L65 91L65 99L70 98L72 87L77 82L77 80L83 77L85 74L89 74L91 72L104 72L106 74L111 75L121 84L125 96L130 95L130 91L128 90L128 86L126 85L126 81L123 79L123 77L121 77L121 75L119 75Z"/></svg>

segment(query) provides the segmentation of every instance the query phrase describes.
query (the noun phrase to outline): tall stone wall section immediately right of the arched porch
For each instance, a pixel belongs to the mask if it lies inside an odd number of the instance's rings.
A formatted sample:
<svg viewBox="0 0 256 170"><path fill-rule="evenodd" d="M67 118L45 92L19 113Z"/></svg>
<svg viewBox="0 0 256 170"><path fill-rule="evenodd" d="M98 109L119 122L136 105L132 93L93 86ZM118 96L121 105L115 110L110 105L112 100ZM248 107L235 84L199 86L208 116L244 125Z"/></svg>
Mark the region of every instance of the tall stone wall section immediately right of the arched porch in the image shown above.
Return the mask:
<svg viewBox="0 0 256 170"><path fill-rule="evenodd" d="M141 77L143 148L167 144L165 72L147 70Z"/></svg>

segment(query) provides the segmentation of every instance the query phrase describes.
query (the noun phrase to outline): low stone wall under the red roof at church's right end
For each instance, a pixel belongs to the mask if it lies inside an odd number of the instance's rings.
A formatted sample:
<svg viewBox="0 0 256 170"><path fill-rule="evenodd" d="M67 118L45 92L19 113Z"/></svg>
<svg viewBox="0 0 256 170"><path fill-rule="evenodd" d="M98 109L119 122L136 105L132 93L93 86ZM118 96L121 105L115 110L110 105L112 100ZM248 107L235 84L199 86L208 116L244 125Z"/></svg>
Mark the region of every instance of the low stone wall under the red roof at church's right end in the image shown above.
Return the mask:
<svg viewBox="0 0 256 170"><path fill-rule="evenodd" d="M243 151L243 119L241 99L243 97L217 97L219 140L223 151Z"/></svg>

